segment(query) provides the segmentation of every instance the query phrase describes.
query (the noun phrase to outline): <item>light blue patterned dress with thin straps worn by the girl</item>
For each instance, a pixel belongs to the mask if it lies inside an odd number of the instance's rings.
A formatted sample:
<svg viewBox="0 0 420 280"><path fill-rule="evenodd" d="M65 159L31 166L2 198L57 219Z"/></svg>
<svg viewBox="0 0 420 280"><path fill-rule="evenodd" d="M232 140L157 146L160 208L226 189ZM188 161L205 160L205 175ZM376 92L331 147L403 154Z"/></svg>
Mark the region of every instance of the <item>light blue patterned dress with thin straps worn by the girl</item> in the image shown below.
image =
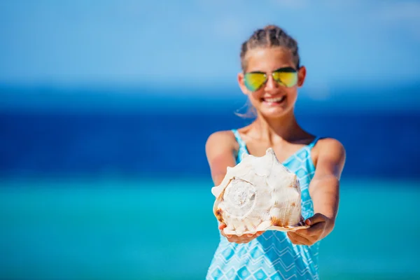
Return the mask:
<svg viewBox="0 0 420 280"><path fill-rule="evenodd" d="M237 130L232 132L239 143L237 162L240 162L242 153L248 153L248 150ZM316 141L318 137L281 162L300 181L302 216L305 219L314 215L309 183L315 173L311 148ZM245 244L230 243L220 235L220 243L211 260L206 279L319 279L318 249L319 242L312 246L295 245L288 239L286 232L274 230L268 230Z"/></svg>

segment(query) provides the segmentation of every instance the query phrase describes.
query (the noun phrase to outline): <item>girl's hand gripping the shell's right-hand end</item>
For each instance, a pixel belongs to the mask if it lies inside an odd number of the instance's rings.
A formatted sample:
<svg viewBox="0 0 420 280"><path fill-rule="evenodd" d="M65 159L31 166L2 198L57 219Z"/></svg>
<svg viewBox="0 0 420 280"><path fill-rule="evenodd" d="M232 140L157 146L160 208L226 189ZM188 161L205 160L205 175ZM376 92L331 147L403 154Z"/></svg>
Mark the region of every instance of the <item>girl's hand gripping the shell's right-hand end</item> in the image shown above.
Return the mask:
<svg viewBox="0 0 420 280"><path fill-rule="evenodd" d="M330 233L334 222L327 216L316 213L311 218L307 218L305 223L310 225L310 228L287 232L293 244L307 246L315 244L316 241L323 239L323 237Z"/></svg>

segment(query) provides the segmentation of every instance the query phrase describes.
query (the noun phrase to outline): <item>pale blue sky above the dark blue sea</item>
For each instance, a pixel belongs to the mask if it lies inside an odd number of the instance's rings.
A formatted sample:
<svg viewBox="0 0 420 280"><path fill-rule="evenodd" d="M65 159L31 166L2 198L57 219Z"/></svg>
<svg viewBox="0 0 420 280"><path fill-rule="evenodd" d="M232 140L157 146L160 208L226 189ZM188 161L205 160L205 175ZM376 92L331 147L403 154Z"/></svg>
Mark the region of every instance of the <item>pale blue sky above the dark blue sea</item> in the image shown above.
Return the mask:
<svg viewBox="0 0 420 280"><path fill-rule="evenodd" d="M321 95L420 81L420 1L0 0L0 85L233 87L267 24L297 39Z"/></svg>

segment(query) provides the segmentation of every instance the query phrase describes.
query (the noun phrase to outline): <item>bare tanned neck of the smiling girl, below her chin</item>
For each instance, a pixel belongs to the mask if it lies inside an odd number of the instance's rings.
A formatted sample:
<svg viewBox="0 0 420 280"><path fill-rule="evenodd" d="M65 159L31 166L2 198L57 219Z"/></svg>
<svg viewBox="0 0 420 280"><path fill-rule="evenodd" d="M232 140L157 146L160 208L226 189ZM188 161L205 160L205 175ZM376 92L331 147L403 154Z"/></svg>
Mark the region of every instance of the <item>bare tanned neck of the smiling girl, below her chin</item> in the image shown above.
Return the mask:
<svg viewBox="0 0 420 280"><path fill-rule="evenodd" d="M297 124L293 111L281 118L270 119L258 114L252 124L255 136L263 141L274 144L279 141L294 141L302 137L304 131Z"/></svg>

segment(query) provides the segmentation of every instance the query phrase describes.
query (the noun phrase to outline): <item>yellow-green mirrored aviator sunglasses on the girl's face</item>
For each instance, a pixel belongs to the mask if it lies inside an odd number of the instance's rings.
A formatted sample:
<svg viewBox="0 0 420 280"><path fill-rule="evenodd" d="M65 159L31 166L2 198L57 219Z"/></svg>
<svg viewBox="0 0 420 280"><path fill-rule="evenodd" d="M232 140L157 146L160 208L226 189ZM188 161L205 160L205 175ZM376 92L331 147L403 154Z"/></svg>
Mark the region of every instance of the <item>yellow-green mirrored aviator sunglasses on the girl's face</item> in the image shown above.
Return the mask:
<svg viewBox="0 0 420 280"><path fill-rule="evenodd" d="M297 71L292 67L284 67L272 72L272 77L279 85L284 87L293 87L297 83ZM246 88L255 92L259 90L262 85L265 85L268 80L267 73L255 71L245 73L244 83Z"/></svg>

